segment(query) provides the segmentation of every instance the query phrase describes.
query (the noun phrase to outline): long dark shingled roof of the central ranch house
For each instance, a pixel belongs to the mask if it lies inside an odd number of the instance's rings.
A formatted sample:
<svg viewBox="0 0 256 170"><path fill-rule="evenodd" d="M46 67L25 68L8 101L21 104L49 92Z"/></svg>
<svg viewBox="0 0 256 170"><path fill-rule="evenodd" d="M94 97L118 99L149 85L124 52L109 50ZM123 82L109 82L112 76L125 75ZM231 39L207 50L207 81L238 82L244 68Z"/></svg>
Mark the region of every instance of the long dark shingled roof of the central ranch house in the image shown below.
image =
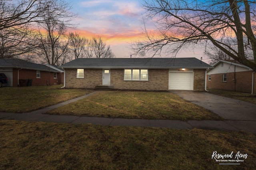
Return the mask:
<svg viewBox="0 0 256 170"><path fill-rule="evenodd" d="M196 58L82 58L60 68L213 68Z"/></svg>

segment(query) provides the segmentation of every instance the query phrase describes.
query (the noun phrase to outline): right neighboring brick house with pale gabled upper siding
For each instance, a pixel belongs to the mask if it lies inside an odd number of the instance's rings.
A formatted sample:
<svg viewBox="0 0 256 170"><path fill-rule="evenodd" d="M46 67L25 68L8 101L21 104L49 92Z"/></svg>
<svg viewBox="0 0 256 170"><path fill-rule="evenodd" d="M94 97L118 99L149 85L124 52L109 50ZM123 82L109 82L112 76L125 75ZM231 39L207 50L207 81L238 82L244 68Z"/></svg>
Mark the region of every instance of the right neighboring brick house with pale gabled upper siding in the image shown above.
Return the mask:
<svg viewBox="0 0 256 170"><path fill-rule="evenodd" d="M234 60L220 60L207 72L207 88L255 94L256 74Z"/></svg>

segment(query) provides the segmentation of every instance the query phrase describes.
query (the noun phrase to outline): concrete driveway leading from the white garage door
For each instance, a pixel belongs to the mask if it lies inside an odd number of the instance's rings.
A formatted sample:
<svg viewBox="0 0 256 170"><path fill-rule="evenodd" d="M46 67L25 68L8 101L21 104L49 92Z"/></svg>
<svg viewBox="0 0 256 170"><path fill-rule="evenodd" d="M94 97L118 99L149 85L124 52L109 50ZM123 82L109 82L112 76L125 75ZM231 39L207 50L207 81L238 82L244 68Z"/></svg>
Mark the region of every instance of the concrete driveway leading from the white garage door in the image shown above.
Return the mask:
<svg viewBox="0 0 256 170"><path fill-rule="evenodd" d="M244 131L256 132L256 104L225 98L206 92L174 90L170 92L218 114L223 119L226 119L222 122L227 125ZM190 121L188 123L190 123ZM196 123L197 121L192 121L190 124L197 126ZM201 125L197 127L210 127L209 121L205 121L205 125L202 125L201 122Z"/></svg>

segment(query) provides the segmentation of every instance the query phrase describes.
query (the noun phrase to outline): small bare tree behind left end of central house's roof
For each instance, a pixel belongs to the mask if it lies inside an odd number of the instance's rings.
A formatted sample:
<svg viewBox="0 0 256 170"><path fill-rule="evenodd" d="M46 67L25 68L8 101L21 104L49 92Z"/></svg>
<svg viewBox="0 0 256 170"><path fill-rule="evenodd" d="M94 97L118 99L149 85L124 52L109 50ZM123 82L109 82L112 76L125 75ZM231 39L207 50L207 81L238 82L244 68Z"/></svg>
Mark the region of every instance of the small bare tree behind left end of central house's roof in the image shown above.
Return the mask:
<svg viewBox="0 0 256 170"><path fill-rule="evenodd" d="M70 43L70 50L74 53L75 59L83 58L85 56L83 52L85 50L85 46L88 44L88 39L80 37L77 32L69 33L68 39Z"/></svg>

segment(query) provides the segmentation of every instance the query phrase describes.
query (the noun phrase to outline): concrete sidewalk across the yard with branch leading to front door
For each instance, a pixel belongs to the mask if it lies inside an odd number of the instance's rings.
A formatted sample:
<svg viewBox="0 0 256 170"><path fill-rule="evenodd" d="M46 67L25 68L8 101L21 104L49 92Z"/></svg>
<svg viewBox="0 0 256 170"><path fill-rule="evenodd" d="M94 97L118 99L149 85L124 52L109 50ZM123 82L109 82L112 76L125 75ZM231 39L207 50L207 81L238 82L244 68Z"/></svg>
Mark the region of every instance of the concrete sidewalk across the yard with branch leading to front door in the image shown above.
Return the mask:
<svg viewBox="0 0 256 170"><path fill-rule="evenodd" d="M136 127L165 127L171 129L210 129L220 131L247 131L256 133L255 121L248 120L226 120L226 121L177 121L177 120L145 120L145 119L120 119L103 117L78 117L73 115L48 115L43 114L60 106L76 102L96 92L75 98L60 104L46 107L44 109L32 111L30 113L0 113L0 120L18 120L18 121L44 121L56 123L73 124L100 124L113 126L136 126Z"/></svg>

